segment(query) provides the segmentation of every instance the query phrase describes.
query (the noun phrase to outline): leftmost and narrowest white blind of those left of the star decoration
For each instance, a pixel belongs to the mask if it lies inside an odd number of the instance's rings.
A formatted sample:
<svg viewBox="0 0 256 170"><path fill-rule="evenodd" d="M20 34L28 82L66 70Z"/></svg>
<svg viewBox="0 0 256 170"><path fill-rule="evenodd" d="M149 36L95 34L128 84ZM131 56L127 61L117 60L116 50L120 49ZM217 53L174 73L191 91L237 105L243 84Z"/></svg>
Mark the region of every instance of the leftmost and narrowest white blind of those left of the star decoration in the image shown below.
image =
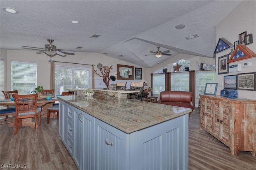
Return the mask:
<svg viewBox="0 0 256 170"><path fill-rule="evenodd" d="M159 95L165 89L165 74L153 74L153 95Z"/></svg>

